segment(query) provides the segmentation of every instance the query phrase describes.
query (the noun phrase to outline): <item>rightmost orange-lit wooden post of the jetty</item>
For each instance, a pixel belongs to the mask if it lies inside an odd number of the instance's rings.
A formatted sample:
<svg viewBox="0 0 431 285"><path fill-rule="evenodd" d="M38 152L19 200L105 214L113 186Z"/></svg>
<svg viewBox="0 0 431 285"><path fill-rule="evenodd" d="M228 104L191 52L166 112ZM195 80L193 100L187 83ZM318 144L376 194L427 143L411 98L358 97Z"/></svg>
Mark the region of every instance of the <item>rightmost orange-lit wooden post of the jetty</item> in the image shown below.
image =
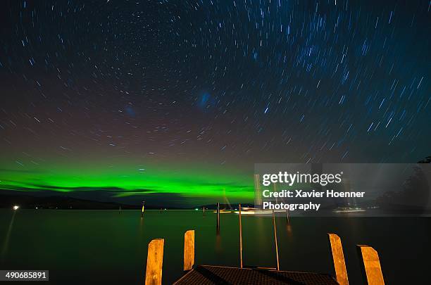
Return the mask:
<svg viewBox="0 0 431 285"><path fill-rule="evenodd" d="M385 285L377 251L371 246L363 245L356 246L356 249L361 260L363 283L368 285Z"/></svg>

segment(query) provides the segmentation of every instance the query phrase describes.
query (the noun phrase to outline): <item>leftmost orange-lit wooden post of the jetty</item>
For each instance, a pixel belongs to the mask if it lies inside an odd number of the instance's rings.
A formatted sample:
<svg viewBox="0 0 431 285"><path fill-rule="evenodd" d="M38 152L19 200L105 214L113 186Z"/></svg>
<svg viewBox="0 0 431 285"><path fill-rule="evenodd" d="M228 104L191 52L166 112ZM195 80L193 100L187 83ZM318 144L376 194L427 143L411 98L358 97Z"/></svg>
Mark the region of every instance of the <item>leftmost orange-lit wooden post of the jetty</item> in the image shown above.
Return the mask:
<svg viewBox="0 0 431 285"><path fill-rule="evenodd" d="M153 239L148 244L145 285L161 285L164 239Z"/></svg>

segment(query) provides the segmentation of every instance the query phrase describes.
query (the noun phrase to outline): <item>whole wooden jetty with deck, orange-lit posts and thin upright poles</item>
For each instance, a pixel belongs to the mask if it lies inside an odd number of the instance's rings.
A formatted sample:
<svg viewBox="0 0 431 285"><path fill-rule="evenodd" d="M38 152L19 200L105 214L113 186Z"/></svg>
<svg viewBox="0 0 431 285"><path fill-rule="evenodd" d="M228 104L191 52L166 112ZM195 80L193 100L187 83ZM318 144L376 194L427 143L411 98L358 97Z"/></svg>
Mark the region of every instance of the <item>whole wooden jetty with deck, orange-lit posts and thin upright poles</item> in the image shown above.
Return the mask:
<svg viewBox="0 0 431 285"><path fill-rule="evenodd" d="M217 230L220 230L220 205L217 211ZM316 272L292 272L280 270L277 248L277 229L273 213L274 238L277 255L277 268L244 267L242 264L242 209L239 205L239 259L240 267L225 267L218 265L196 265L194 259L194 230L185 232L184 236L184 266L185 274L174 282L175 285L211 285L211 284L292 284L292 285L349 285L346 262L342 242L337 234L328 233L330 257L335 277L330 274ZM162 284L163 239L154 239L149 243L146 260L146 285ZM377 251L370 246L356 246L361 263L363 284L385 285L380 259Z"/></svg>

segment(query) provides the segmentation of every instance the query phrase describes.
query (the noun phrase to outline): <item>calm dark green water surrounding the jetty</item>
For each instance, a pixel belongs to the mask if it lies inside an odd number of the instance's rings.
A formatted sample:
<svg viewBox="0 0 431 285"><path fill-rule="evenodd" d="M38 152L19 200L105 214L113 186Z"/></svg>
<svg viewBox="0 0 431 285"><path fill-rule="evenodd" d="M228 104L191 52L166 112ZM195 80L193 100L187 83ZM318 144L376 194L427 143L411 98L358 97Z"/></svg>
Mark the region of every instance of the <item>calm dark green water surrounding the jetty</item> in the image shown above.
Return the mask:
<svg viewBox="0 0 431 285"><path fill-rule="evenodd" d="M238 216L197 211L0 210L0 269L49 270L49 284L143 284L146 248L165 239L163 283L182 275L184 232L195 229L196 263L239 265ZM351 284L361 284L355 245L373 246L387 284L429 273L430 218L277 217L280 269L331 273L327 232L342 238ZM272 220L243 217L244 265L275 267ZM17 284L17 283L15 283ZM47 283L44 283L47 284Z"/></svg>

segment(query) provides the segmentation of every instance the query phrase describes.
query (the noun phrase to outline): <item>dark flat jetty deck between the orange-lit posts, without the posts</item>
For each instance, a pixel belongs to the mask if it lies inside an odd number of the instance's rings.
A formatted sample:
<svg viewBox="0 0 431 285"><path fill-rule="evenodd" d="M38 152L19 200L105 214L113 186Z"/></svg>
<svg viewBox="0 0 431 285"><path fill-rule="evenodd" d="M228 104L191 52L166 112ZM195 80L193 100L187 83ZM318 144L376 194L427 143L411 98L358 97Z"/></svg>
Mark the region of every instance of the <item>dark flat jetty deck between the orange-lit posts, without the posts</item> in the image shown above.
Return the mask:
<svg viewBox="0 0 431 285"><path fill-rule="evenodd" d="M187 272L175 285L211 285L211 284L292 284L292 285L327 285L337 281L329 274L311 272L290 272L262 270L254 268L197 265Z"/></svg>

